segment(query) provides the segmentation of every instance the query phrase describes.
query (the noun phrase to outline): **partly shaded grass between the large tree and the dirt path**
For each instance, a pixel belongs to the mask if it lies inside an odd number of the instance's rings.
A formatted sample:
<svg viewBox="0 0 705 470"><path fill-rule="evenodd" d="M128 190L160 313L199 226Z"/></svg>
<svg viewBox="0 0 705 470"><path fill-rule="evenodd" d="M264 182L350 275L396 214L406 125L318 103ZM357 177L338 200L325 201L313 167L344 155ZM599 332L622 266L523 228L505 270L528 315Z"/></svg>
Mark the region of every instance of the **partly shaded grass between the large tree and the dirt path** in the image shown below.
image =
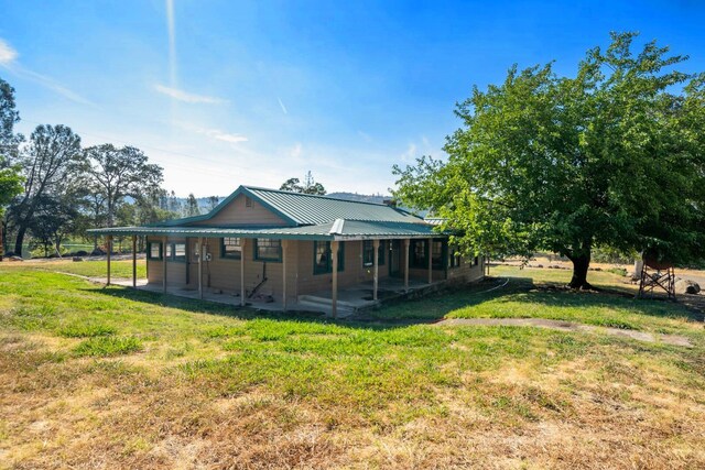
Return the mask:
<svg viewBox="0 0 705 470"><path fill-rule="evenodd" d="M550 318L583 324L634 329L650 332L679 334L698 340L703 330L702 314L683 305L634 298L623 276L608 272L590 272L594 285L606 293L575 293L563 288L571 271L492 267L500 280L462 288L447 295L398 304L372 315L383 319L413 316L437 318ZM508 278L506 286L503 285ZM489 291L489 292L487 292Z"/></svg>

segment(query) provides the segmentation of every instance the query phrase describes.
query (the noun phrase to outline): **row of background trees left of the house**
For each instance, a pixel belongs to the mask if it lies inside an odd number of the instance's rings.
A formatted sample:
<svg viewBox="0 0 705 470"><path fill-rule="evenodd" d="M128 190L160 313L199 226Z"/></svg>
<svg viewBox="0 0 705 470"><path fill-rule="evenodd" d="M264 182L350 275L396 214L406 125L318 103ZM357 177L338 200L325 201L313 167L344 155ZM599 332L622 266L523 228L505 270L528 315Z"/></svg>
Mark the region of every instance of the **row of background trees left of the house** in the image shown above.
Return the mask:
<svg viewBox="0 0 705 470"><path fill-rule="evenodd" d="M37 125L29 138L13 131L20 116L14 89L0 78L0 250L41 247L59 253L94 227L139 226L200 214L162 188L163 168L133 146L82 146L70 128ZM210 197L212 206L218 198ZM12 241L12 243L10 243ZM97 248L97 239L91 240ZM0 251L2 253L2 251Z"/></svg>

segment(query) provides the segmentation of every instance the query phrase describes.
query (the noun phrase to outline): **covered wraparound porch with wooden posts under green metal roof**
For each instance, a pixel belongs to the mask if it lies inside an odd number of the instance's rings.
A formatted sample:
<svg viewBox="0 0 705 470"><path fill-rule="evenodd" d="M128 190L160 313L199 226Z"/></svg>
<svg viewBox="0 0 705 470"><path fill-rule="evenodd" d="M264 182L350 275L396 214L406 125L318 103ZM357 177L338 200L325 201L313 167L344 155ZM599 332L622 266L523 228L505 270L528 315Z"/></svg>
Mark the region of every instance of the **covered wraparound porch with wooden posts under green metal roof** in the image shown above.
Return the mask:
<svg viewBox="0 0 705 470"><path fill-rule="evenodd" d="M139 236L145 236L149 240L159 240L160 247L167 247L170 240L184 239L186 243L184 247L189 247L188 240L195 242L193 252L184 253L184 263L186 265L186 272L192 271L191 283L185 283L181 280L173 278L170 273L169 266L174 266L173 258L162 255L160 248L160 259L150 260L148 255L148 273L155 272L160 274L156 280L150 276L150 283L140 288L161 292L164 294L178 295L183 297L204 299L210 302L218 302L234 306L251 306L254 308L261 308L265 310L315 310L324 311L330 316L347 316L351 313L372 308L379 304L380 299L393 298L406 295L411 292L426 288L434 283L445 281L447 270L438 270L437 263L432 255L432 247L434 247L434 240L438 240L443 236L433 233L427 226L420 225L382 225L376 223L373 227L370 223L364 222L346 222L343 220L336 220L334 223L326 226L313 226L301 228L276 228L276 229L256 229L256 228L200 228L200 227L182 227L182 228L120 228L120 229L102 229L101 232L106 234L106 245L108 253L111 252L113 236L129 234L132 239L133 251L137 248L137 240ZM372 230L375 229L375 230ZM237 237L239 240L239 248L241 256L236 261L228 264L229 276L237 276L239 285L231 285L229 288L212 288L209 285L209 270L208 264L212 250L208 249L208 241L213 239L223 239L225 237ZM276 288L276 295L262 296L265 298L258 298L253 296L254 289L251 285L247 285L245 282L246 270L248 266L251 269L252 264L257 260L250 256L252 248L257 247L257 241L268 239L274 240L279 243L280 255L274 262L265 263L267 270L262 272L262 277L270 276L276 277L276 284L273 287ZM301 284L302 276L299 275L296 269L292 270L291 264L300 263L301 269L308 272L311 265L304 266L307 256L302 258L301 251L297 255L297 242L307 241L308 243L325 242L328 243L329 251L324 254L329 260L329 271L327 276L317 276L314 278L315 283L310 284L304 288ZM410 265L410 247L414 247L413 243L425 243L425 259L423 264L415 263ZM213 242L212 242L213 243ZM440 243L440 242L437 242ZM147 243L149 245L149 243ZM171 243L174 244L173 242ZM360 266L356 267L359 271L367 272L367 278L369 281L357 282L350 278L350 273L347 274L347 280L344 277L343 285L339 282L339 276L343 274L339 270L339 256L338 253L344 254L343 244L352 244L361 250L360 260L356 263L360 263ZM366 251L362 247L368 247ZM315 244L314 244L315 247ZM382 250L380 250L382 248ZM388 250L387 265L383 275L380 275L380 256L384 262L384 249ZM174 248L172 247L172 250ZM315 248L314 248L315 251ZM350 250L347 250L348 254ZM173 253L174 258L176 252ZM315 253L314 253L315 255ZM364 255L366 258L364 258ZM191 259L195 260L191 263ZM340 256L343 259L345 256ZM205 260L204 260L205 259ZM435 260L435 261L434 261ZM110 272L110 254L107 260L107 278L106 283L110 285L111 272ZM135 258L133 256L133 278L130 283L133 287L137 287L137 270ZM369 264L365 264L369 261ZM261 263L261 262L260 262ZM348 256L348 264L350 259ZM367 266L367 267L361 267ZM297 267L297 266L296 266ZM343 266L340 266L343 267ZM345 266L349 270L350 266ZM208 271L208 284L204 283L204 270ZM315 270L315 269L314 269ZM267 273L267 274L265 274ZM392 274L393 273L393 274ZM316 274L315 272L313 274ZM149 275L149 274L148 274ZM188 274L186 274L188 278ZM325 280L329 278L329 283ZM311 281L311 278L308 280ZM352 281L352 282L351 282ZM121 283L122 284L122 283ZM302 288L300 289L300 285ZM294 288L292 288L294 287ZM313 287L313 288L312 288ZM327 287L327 288L323 288ZM254 292L253 292L254 291ZM258 302L267 300L267 302Z"/></svg>

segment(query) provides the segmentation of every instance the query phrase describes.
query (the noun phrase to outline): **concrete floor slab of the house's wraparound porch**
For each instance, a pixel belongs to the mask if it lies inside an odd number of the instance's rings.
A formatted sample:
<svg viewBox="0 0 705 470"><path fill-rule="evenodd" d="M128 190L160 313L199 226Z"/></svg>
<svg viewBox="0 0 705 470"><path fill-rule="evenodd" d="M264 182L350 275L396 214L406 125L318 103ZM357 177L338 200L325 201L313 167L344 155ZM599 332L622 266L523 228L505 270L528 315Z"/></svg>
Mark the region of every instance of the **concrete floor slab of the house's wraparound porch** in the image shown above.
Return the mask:
<svg viewBox="0 0 705 470"><path fill-rule="evenodd" d="M101 282L105 284L106 278L94 278L95 282ZM132 280L112 280L112 285L119 285L123 287L132 287ZM372 300L372 282L365 282L355 286L338 289L338 318L345 318L354 315L358 310L372 308L379 305L386 299L395 298L415 291L422 291L438 283L429 284L421 281L409 280L409 288L404 288L404 281L401 278L384 278L379 282L378 285L378 300ZM137 288L141 291L153 292L156 294L163 293L161 284L148 284L147 280L138 280ZM198 299L198 291L194 288L184 288L180 286L167 286L166 294L175 295L177 297L185 297L192 299ZM333 292L318 291L312 294L300 295L299 298L291 298L286 302L286 310L289 311L319 311L325 315L332 315L332 298ZM218 304L231 305L240 308L240 296L232 292L224 292L220 289L204 288L203 299L207 302L215 302ZM265 310L265 311L283 311L284 306L281 300L274 299L274 302L258 302L254 299L247 299L246 306L249 308Z"/></svg>

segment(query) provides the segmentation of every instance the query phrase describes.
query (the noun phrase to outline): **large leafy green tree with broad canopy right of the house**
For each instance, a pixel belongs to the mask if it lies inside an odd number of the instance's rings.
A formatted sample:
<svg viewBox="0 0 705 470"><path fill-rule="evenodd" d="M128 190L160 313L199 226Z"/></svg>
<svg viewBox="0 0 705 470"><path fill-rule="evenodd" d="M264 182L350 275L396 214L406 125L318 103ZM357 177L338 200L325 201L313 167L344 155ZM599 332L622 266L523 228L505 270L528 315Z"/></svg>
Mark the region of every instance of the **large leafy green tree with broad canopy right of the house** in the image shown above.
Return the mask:
<svg viewBox="0 0 705 470"><path fill-rule="evenodd" d="M634 33L587 52L575 77L551 64L477 87L457 106L447 159L395 166L395 196L446 219L466 252L572 260L589 287L594 247L682 263L705 251L704 75Z"/></svg>

